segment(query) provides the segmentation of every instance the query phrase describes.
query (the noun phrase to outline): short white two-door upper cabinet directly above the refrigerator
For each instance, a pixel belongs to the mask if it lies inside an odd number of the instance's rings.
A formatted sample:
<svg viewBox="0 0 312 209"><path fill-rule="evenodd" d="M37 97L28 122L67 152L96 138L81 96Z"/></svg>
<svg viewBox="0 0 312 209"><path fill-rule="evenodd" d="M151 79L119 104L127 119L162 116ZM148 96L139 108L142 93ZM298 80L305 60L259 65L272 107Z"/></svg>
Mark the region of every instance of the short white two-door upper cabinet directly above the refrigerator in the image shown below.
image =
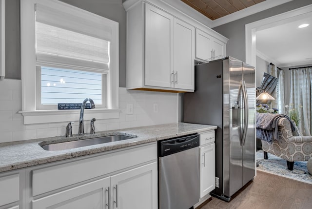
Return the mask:
<svg viewBox="0 0 312 209"><path fill-rule="evenodd" d="M226 43L196 28L195 58L198 61L212 61L226 56Z"/></svg>

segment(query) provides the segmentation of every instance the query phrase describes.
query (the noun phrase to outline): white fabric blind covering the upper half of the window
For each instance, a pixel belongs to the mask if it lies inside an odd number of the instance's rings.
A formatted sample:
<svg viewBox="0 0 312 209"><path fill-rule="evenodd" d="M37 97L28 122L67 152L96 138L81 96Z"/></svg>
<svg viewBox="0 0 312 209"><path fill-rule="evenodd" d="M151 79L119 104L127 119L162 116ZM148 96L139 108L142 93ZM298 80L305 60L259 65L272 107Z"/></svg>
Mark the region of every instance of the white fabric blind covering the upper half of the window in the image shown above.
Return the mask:
<svg viewBox="0 0 312 209"><path fill-rule="evenodd" d="M37 65L106 74L111 29L102 17L71 9L36 4Z"/></svg>

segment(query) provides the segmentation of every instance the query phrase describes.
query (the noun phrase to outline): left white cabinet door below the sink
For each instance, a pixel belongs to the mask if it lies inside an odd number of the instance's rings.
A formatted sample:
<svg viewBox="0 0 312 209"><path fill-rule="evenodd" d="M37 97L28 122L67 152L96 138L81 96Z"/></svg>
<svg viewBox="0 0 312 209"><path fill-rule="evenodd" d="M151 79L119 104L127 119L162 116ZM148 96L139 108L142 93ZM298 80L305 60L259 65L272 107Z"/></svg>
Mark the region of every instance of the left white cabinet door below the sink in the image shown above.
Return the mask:
<svg viewBox="0 0 312 209"><path fill-rule="evenodd" d="M106 209L110 177L33 200L33 209Z"/></svg>

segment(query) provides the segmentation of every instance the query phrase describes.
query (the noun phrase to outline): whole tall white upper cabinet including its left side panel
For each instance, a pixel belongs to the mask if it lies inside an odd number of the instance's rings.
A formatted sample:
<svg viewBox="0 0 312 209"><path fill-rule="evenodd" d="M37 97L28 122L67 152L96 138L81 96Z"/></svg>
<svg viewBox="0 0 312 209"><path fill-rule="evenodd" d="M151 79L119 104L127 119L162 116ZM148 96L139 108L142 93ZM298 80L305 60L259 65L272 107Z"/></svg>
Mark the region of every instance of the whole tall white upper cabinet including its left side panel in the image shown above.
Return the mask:
<svg viewBox="0 0 312 209"><path fill-rule="evenodd" d="M194 26L145 1L127 9L128 89L194 91L194 60Z"/></svg>

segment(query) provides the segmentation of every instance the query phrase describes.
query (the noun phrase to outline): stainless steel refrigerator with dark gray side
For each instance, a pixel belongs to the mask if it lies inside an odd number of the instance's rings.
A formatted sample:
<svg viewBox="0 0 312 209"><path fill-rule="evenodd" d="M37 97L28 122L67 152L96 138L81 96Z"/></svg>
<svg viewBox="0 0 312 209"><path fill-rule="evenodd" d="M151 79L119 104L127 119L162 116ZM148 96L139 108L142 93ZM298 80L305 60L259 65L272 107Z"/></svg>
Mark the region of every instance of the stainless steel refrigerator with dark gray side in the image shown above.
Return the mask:
<svg viewBox="0 0 312 209"><path fill-rule="evenodd" d="M255 176L255 70L232 57L195 66L195 92L185 93L185 123L216 125L216 187L230 201Z"/></svg>

